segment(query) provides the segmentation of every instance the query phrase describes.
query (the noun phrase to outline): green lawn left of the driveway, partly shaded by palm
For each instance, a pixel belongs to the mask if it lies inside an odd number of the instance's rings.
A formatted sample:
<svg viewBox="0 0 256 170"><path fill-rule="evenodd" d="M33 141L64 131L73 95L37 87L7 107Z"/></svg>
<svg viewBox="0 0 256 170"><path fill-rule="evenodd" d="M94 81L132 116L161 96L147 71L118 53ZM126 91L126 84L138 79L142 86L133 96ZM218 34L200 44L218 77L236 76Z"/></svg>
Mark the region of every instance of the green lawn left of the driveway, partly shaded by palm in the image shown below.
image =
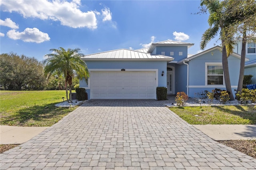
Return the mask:
<svg viewBox="0 0 256 170"><path fill-rule="evenodd" d="M76 107L55 107L66 91L0 91L1 125L48 127Z"/></svg>

